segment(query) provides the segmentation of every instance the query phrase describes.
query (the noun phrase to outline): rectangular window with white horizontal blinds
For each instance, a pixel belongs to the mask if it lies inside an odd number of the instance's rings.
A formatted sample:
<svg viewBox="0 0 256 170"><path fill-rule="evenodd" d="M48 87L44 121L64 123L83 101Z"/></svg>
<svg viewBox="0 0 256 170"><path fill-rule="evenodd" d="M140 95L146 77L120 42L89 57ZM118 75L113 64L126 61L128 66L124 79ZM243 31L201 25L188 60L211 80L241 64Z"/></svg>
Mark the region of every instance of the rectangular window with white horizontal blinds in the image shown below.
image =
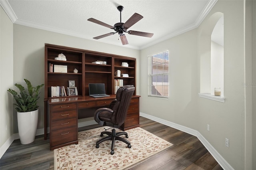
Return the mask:
<svg viewBox="0 0 256 170"><path fill-rule="evenodd" d="M148 96L169 96L169 51L148 57Z"/></svg>

